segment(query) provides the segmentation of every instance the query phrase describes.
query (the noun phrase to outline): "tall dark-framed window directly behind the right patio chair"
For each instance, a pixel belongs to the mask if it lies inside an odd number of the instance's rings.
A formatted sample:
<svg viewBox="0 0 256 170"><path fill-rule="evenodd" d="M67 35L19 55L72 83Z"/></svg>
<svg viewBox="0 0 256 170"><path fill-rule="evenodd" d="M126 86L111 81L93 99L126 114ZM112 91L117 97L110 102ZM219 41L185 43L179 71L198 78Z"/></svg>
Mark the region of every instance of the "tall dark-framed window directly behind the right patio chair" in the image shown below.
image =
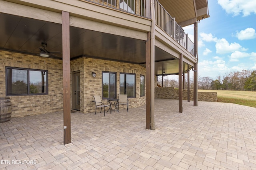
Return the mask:
<svg viewBox="0 0 256 170"><path fill-rule="evenodd" d="M135 74L120 73L120 94L136 97Z"/></svg>

